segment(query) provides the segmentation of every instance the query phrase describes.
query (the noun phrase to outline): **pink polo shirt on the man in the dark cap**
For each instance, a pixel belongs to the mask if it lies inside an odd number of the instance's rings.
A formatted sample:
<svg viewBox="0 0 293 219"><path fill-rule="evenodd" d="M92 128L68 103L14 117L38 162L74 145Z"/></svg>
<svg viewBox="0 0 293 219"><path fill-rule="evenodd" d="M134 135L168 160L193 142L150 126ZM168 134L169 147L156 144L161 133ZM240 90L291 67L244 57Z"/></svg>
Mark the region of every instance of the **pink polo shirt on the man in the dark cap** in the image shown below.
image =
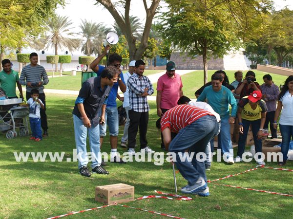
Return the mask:
<svg viewBox="0 0 293 219"><path fill-rule="evenodd" d="M180 98L180 88L182 81L179 74L174 74L173 78L168 77L167 73L158 79L157 91L161 91L161 109L171 109L177 106L177 101Z"/></svg>

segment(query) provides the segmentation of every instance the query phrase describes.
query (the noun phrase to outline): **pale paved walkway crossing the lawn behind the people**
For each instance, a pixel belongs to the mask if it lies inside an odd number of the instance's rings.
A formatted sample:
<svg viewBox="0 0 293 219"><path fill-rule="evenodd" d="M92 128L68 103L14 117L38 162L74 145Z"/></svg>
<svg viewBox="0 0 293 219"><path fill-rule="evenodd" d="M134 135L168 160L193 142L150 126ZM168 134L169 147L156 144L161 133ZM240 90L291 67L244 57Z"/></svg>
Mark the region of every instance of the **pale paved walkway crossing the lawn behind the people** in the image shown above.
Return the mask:
<svg viewBox="0 0 293 219"><path fill-rule="evenodd" d="M190 72L193 72L195 70L176 70L177 74L183 75ZM162 76L166 71L155 73L147 76L152 84L157 83L160 76ZM57 75L56 75L57 76ZM55 77L55 76L54 76ZM25 88L22 88L22 91L25 92ZM56 93L56 94L66 94L66 95L75 95L77 96L79 94L79 91L68 91L68 90L56 90L56 89L44 89L45 93ZM119 94L123 96L123 93L119 90ZM156 96L147 96L147 100L156 100Z"/></svg>

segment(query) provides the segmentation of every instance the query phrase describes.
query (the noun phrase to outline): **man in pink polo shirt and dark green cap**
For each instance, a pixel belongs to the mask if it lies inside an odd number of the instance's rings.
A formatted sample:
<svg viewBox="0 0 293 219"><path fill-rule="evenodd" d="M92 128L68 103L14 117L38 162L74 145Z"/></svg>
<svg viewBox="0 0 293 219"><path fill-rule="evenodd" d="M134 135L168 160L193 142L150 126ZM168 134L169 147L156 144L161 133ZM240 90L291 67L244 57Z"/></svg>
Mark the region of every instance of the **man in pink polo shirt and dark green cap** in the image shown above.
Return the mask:
<svg viewBox="0 0 293 219"><path fill-rule="evenodd" d="M175 73L175 63L169 61L166 65L166 73L158 79L157 83L157 114L159 117L171 108L177 106L178 99L183 96L182 81L179 74ZM171 133L172 139L176 136ZM165 149L163 135L161 134L161 148Z"/></svg>

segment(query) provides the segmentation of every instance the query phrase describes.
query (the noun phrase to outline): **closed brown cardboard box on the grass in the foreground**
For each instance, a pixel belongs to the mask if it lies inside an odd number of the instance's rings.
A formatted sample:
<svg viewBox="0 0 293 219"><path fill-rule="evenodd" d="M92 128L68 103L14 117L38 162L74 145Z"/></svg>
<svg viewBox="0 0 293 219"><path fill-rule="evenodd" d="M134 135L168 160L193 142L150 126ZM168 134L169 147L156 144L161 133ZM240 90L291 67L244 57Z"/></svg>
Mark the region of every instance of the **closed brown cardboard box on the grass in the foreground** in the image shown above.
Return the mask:
<svg viewBox="0 0 293 219"><path fill-rule="evenodd" d="M133 201L134 186L124 183L97 186L95 200L104 204Z"/></svg>

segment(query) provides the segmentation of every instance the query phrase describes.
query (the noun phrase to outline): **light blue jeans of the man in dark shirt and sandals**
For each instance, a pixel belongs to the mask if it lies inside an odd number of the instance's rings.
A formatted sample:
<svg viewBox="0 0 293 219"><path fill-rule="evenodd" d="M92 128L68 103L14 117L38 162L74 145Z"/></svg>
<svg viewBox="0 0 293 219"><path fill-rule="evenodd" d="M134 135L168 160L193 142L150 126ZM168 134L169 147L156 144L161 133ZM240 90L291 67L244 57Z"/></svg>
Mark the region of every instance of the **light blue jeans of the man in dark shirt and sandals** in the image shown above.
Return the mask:
<svg viewBox="0 0 293 219"><path fill-rule="evenodd" d="M73 115L73 125L74 125L74 137L76 150L78 154L78 168L88 163L87 152L86 152L86 137L88 135L89 148L91 151L92 164L91 167L95 168L101 165L102 157L100 153L100 128L99 126L91 126L91 128L86 128L84 126L83 120L78 116Z"/></svg>

